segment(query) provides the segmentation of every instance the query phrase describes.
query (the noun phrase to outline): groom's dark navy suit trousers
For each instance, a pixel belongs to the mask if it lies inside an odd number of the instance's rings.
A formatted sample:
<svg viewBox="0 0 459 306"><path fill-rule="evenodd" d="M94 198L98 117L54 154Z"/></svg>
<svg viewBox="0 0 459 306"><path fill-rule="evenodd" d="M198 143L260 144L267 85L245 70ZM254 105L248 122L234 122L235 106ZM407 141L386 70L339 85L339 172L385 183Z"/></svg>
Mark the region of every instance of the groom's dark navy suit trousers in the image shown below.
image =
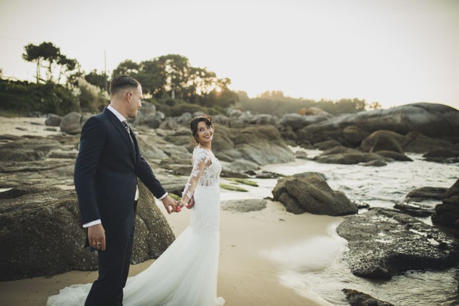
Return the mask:
<svg viewBox="0 0 459 306"><path fill-rule="evenodd" d="M122 306L123 288L131 262L137 201L123 224L106 229L106 249L97 250L99 276L92 284L85 306Z"/></svg>

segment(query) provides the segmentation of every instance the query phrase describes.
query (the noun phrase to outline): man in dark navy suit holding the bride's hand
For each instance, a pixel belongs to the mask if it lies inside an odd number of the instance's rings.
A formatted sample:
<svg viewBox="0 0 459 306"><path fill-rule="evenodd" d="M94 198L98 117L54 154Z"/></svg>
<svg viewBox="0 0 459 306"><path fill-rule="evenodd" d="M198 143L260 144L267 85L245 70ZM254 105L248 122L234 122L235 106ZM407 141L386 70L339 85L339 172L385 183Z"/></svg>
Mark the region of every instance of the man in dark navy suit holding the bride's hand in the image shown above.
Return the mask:
<svg viewBox="0 0 459 306"><path fill-rule="evenodd" d="M122 305L139 198L137 177L162 200L169 214L176 211L176 201L140 155L126 122L136 117L141 99L137 80L125 75L113 79L110 105L89 118L81 131L73 179L83 227L88 228L85 246L97 249L99 267L85 306Z"/></svg>

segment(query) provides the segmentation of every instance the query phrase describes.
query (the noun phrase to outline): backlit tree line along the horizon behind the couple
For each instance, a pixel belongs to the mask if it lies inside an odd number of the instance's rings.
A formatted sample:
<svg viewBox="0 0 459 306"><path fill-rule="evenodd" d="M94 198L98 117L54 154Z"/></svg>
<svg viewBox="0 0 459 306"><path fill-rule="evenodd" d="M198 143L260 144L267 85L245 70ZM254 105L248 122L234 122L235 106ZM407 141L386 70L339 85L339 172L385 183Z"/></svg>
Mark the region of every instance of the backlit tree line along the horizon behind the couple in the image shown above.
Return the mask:
<svg viewBox="0 0 459 306"><path fill-rule="evenodd" d="M266 91L249 98L243 91L228 88L231 80L218 78L206 67L193 67L187 57L168 54L139 63L125 60L111 75L96 69L85 73L77 59L65 55L52 42L27 44L22 58L36 64L35 84L5 80L0 69L0 110L18 112L100 111L108 104L107 84L118 75L130 75L142 84L146 100L167 115L179 112L207 111L224 113L228 107L239 107L253 113L282 115L318 107L331 114L380 108L357 98L311 100L284 96L282 91Z"/></svg>

